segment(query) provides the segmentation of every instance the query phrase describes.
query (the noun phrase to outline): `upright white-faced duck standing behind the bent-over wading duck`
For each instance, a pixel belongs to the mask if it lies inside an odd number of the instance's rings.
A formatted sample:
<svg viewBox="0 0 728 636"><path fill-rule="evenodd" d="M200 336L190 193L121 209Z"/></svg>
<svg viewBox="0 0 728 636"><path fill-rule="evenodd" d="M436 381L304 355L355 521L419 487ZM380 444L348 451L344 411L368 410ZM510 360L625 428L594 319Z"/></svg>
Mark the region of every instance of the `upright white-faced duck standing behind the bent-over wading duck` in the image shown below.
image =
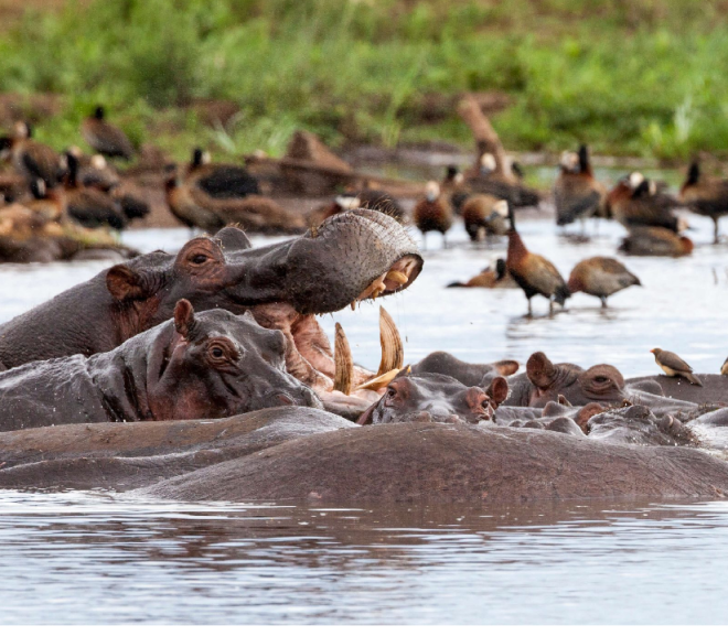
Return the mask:
<svg viewBox="0 0 728 636"><path fill-rule="evenodd" d="M584 222L595 216L607 196L607 191L593 176L588 148L581 144L578 153L564 152L554 184L556 224L568 225L576 219Z"/></svg>

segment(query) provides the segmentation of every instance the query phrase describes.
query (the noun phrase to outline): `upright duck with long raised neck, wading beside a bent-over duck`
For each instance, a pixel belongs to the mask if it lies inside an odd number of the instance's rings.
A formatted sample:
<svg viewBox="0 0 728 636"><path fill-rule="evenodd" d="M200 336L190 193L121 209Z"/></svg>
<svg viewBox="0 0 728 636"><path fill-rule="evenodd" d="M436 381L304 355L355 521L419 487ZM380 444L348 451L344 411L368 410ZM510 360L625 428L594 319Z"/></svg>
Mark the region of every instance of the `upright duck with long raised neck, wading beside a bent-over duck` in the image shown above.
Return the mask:
<svg viewBox="0 0 728 636"><path fill-rule="evenodd" d="M508 220L511 227L507 230L508 251L505 265L513 280L526 294L528 300L528 314L532 314L531 299L540 294L548 299L549 313L554 311L554 301L564 306L566 299L571 295L564 278L554 263L537 254L531 254L521 235L515 228L513 206L508 204Z"/></svg>

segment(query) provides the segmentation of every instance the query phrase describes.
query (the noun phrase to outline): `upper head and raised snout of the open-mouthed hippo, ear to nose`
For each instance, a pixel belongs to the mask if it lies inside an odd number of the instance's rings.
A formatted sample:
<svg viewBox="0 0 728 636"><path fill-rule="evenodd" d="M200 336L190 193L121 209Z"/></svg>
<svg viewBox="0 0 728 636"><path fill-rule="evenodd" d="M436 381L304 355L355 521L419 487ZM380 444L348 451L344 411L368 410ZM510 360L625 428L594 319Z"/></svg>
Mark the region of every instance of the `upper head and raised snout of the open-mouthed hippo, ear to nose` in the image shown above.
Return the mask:
<svg viewBox="0 0 728 636"><path fill-rule="evenodd" d="M300 314L322 314L406 289L421 268L414 240L396 220L355 209L259 248L227 227L188 241L176 257L154 252L117 265L106 272L106 287L150 320L169 319L182 298L197 310L242 313L287 303Z"/></svg>

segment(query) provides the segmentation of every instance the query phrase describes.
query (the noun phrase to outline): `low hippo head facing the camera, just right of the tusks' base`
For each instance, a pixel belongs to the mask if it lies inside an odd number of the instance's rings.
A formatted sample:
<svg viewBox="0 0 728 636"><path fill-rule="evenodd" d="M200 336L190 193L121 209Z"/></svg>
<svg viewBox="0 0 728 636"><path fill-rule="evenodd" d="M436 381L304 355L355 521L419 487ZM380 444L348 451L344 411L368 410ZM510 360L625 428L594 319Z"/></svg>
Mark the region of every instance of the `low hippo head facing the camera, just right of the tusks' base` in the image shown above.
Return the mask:
<svg viewBox="0 0 728 636"><path fill-rule="evenodd" d="M477 424L491 420L507 395L508 384L502 377L494 378L483 390L467 387L450 376L403 371L389 382L379 401L364 412L358 423L424 420Z"/></svg>

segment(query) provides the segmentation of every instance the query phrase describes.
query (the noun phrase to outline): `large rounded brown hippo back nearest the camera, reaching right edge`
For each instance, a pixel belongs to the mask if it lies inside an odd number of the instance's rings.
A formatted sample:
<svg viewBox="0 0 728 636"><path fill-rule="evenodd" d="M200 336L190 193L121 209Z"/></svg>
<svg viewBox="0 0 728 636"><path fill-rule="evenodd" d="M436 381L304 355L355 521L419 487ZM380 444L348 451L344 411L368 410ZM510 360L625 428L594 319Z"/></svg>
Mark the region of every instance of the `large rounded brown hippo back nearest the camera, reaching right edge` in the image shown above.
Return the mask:
<svg viewBox="0 0 728 636"><path fill-rule="evenodd" d="M388 423L292 440L139 494L184 500L523 502L721 497L728 463L549 431Z"/></svg>

